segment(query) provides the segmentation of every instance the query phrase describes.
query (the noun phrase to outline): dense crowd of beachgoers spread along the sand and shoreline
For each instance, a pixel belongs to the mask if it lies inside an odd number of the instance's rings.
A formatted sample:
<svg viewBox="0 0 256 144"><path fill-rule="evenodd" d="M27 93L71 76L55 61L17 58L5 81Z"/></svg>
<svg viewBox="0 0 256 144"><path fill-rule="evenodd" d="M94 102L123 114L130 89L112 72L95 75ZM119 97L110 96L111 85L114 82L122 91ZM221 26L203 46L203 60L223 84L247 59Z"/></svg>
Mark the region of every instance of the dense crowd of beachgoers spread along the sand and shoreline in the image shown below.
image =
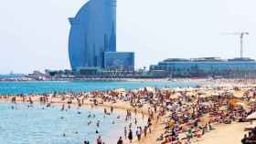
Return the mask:
<svg viewBox="0 0 256 144"><path fill-rule="evenodd" d="M240 91L240 98L235 93ZM77 105L109 106L110 111L104 108L105 115L111 115L115 104L127 104L126 121L132 121L125 126L123 136L117 139L117 144L128 141L142 141L153 131L153 126L163 127L162 133L155 139L161 144L190 144L201 139L207 132L214 130L216 123L231 124L234 121L244 122L246 118L256 111L255 87L195 87L195 88L148 88L129 91L92 91L89 93L54 93L45 95L18 95L1 96L1 99L11 98L13 103L28 101L28 107L37 101L47 107L51 103L61 102L61 110ZM144 127L137 126L137 115L147 117ZM132 115L135 118L132 118ZM89 116L92 117L92 116ZM113 122L114 123L114 122ZM97 122L97 126L100 122ZM132 126L136 129L132 129ZM256 130L252 129L249 136L245 136L242 143L250 138L256 138ZM134 139L134 137L136 139ZM103 144L101 136L96 140ZM84 144L89 144L88 140Z"/></svg>

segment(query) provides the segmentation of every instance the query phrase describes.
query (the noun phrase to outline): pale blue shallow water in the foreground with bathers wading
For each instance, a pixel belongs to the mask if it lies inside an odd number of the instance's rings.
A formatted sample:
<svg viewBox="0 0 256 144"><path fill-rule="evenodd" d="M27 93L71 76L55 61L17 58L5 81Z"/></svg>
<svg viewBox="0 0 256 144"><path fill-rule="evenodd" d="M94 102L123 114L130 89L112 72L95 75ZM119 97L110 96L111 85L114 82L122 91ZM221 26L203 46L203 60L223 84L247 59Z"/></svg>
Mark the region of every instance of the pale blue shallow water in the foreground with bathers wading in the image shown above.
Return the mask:
<svg viewBox="0 0 256 144"><path fill-rule="evenodd" d="M45 109L40 104L34 105L34 108L27 108L27 104L23 103L18 103L17 109L12 109L11 106L14 104L0 102L1 144L82 144L84 139L94 144L98 137L95 133L97 120L101 120L99 135L103 141L114 144L123 136L123 127L131 122L124 121L124 112L104 118L100 108L82 108L79 115L77 108L60 111L57 105ZM90 112L96 118L88 118ZM117 119L118 115L121 116L120 119ZM93 123L88 126L90 120ZM113 120L115 124L112 124ZM138 125L144 124L141 120ZM63 133L66 137L63 137Z"/></svg>

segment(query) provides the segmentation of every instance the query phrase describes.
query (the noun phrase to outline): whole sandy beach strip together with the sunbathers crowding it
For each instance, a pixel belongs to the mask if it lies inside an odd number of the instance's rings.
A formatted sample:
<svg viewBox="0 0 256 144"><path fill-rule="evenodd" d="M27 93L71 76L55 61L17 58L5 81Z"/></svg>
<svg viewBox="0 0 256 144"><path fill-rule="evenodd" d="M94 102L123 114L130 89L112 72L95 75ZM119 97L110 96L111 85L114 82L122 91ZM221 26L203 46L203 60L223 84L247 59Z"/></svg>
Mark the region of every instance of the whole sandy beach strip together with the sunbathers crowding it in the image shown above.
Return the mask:
<svg viewBox="0 0 256 144"><path fill-rule="evenodd" d="M86 94L1 96L0 100L57 103L59 107L67 106L71 100L72 107L114 108L122 113L128 110L133 115L137 113L138 118L143 118L143 113L145 119L152 118L151 132L147 129L147 137L142 134L140 140L133 133L133 144L239 144L248 133L244 129L253 128L244 121L256 111L255 86L252 80L224 79L209 80L205 87L165 87L157 91L154 87L145 87L133 92L117 89ZM123 143L130 142L123 140Z"/></svg>

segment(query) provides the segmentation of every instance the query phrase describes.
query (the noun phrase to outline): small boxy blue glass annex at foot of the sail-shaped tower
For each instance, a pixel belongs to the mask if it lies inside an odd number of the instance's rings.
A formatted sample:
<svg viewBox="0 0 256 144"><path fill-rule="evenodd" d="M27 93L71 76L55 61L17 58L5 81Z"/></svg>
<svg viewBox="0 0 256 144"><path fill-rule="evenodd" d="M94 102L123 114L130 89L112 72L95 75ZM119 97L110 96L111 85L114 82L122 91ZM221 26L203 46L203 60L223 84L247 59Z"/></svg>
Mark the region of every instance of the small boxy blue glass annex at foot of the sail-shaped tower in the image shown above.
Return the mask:
<svg viewBox="0 0 256 144"><path fill-rule="evenodd" d="M134 53L132 52L105 52L104 69L106 70L134 70Z"/></svg>

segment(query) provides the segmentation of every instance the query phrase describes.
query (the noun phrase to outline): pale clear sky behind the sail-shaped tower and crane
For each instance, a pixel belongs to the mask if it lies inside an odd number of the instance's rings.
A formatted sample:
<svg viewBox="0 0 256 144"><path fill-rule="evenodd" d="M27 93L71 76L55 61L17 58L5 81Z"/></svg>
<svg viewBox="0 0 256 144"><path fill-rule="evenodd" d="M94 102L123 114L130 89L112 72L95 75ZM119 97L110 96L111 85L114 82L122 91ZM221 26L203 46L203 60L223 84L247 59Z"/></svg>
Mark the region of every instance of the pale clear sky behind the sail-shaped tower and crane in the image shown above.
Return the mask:
<svg viewBox="0 0 256 144"><path fill-rule="evenodd" d="M87 0L5 0L0 5L0 74L69 68L68 17ZM255 0L117 0L117 50L135 65L170 57L256 58Z"/></svg>

